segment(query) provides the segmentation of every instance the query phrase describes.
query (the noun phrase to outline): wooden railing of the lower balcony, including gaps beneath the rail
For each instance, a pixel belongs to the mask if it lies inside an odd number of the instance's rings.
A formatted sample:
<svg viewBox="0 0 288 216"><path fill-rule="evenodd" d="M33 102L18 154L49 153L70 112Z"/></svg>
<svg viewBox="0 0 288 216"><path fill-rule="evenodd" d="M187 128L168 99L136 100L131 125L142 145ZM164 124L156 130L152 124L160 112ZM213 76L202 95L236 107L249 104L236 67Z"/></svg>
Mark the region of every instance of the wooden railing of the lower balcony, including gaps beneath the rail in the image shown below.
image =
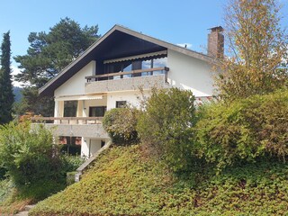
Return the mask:
<svg viewBox="0 0 288 216"><path fill-rule="evenodd" d="M103 117L31 117L35 123L102 124Z"/></svg>

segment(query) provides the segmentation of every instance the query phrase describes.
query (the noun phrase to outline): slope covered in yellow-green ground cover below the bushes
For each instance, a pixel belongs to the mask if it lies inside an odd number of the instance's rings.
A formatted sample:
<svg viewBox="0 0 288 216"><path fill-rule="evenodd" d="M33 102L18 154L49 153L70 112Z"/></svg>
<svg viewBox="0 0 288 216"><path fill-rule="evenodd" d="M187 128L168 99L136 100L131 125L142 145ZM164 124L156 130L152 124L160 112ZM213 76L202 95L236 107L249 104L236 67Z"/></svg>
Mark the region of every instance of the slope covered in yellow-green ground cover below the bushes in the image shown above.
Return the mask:
<svg viewBox="0 0 288 216"><path fill-rule="evenodd" d="M139 146L111 148L83 179L29 215L283 215L288 166L266 161L175 178ZM198 167L201 169L201 167Z"/></svg>

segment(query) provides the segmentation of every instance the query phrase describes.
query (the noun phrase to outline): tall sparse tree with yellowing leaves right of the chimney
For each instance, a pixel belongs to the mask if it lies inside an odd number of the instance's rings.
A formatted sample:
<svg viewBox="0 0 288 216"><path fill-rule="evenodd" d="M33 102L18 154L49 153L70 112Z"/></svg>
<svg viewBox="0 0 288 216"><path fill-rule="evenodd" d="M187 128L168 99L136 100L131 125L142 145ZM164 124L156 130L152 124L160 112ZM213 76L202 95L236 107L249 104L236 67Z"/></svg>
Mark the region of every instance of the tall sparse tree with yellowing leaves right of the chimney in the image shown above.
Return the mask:
<svg viewBox="0 0 288 216"><path fill-rule="evenodd" d="M266 94L287 85L287 71L281 68L287 37L279 10L275 0L229 1L225 17L229 58L220 62L222 72L216 76L222 98Z"/></svg>

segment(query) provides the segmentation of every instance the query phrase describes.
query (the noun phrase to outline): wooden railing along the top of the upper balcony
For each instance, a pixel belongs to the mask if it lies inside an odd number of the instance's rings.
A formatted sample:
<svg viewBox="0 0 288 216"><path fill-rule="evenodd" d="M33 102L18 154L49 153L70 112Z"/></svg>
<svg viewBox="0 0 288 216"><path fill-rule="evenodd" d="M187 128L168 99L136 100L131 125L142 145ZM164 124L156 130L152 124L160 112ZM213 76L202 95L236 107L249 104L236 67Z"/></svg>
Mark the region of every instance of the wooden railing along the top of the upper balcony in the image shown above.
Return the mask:
<svg viewBox="0 0 288 216"><path fill-rule="evenodd" d="M169 71L169 67L156 67L156 68L148 68L148 69L139 69L139 70L131 70L127 72L118 72L118 73L108 73L103 75L95 75L95 76L85 76L87 83L94 81L103 81L109 79L117 79L123 77L139 77L139 76L154 76L156 72L159 74L167 74ZM130 76L129 76L130 75Z"/></svg>

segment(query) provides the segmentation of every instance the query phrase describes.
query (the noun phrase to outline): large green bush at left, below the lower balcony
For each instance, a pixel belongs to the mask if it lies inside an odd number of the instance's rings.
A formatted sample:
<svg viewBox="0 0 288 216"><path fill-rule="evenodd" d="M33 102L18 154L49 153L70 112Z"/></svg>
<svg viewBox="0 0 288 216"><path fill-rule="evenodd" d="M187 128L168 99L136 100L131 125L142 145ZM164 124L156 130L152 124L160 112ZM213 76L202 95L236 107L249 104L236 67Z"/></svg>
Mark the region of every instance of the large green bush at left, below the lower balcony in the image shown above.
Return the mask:
<svg viewBox="0 0 288 216"><path fill-rule="evenodd" d="M43 125L11 122L0 128L0 163L20 197L39 200L65 188L66 173L82 160L62 156Z"/></svg>

